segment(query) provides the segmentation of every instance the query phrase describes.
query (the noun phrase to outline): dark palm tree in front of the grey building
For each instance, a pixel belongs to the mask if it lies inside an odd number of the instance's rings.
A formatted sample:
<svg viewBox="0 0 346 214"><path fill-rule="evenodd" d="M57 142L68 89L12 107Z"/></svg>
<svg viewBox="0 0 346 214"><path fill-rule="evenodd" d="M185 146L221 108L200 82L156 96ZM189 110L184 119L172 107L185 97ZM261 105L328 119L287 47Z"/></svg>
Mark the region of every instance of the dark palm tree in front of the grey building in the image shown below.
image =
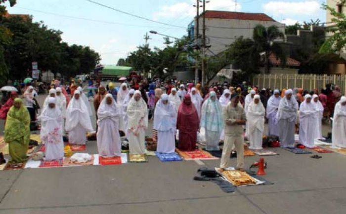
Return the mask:
<svg viewBox="0 0 346 214"><path fill-rule="evenodd" d="M275 39L283 37L284 34L274 25L268 28L265 28L263 25L257 25L254 28L253 39L255 41L255 48L258 53L264 53L264 68L266 73L269 73L270 70L269 56L271 53L274 53L281 60L281 65L286 64L286 56L281 46L274 42Z"/></svg>

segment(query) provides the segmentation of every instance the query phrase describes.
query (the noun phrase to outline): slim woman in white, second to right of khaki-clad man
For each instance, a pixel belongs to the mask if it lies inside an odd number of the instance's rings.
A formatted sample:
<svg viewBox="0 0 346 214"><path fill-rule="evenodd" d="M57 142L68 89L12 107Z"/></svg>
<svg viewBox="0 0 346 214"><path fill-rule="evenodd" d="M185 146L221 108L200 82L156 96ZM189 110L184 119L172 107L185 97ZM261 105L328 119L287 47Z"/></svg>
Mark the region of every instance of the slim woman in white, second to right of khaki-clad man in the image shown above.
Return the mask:
<svg viewBox="0 0 346 214"><path fill-rule="evenodd" d="M268 118L268 135L279 136L279 126L276 118L277 110L281 101L280 91L275 89L267 102L266 117Z"/></svg>

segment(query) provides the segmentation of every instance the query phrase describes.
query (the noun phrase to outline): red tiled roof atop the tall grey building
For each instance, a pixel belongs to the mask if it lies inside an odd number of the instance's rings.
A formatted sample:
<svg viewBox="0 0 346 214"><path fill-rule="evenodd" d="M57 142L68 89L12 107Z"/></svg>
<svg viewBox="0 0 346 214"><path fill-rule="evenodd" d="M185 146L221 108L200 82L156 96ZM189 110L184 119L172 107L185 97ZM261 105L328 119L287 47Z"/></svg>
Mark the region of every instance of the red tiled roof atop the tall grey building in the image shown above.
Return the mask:
<svg viewBox="0 0 346 214"><path fill-rule="evenodd" d="M264 13L241 13L241 12L231 12L231 11L207 10L205 14L206 14L206 18L241 19L241 20L258 20L258 21L275 22L274 19L272 19L271 17L269 17L268 15Z"/></svg>

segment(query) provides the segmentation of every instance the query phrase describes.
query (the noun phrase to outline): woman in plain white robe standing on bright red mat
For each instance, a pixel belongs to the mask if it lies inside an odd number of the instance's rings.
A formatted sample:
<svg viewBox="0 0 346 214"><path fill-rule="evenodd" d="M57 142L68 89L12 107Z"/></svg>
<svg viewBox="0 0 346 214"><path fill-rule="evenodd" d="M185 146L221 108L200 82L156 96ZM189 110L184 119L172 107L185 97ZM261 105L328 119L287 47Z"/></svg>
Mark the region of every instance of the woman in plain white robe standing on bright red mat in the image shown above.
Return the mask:
<svg viewBox="0 0 346 214"><path fill-rule="evenodd" d="M112 94L106 94L97 109L97 149L103 157L121 156L120 113Z"/></svg>

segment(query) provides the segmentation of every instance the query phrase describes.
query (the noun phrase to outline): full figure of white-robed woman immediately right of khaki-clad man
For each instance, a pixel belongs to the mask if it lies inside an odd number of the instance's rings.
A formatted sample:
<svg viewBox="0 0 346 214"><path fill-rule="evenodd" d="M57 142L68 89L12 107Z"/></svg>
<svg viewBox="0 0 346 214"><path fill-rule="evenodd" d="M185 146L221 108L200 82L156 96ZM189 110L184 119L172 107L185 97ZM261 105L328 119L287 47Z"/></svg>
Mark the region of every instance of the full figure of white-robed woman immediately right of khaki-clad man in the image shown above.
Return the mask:
<svg viewBox="0 0 346 214"><path fill-rule="evenodd" d="M249 128L249 140L251 149L262 149L262 135L264 130L265 109L260 102L259 95L254 96L254 100L248 107L246 118Z"/></svg>

